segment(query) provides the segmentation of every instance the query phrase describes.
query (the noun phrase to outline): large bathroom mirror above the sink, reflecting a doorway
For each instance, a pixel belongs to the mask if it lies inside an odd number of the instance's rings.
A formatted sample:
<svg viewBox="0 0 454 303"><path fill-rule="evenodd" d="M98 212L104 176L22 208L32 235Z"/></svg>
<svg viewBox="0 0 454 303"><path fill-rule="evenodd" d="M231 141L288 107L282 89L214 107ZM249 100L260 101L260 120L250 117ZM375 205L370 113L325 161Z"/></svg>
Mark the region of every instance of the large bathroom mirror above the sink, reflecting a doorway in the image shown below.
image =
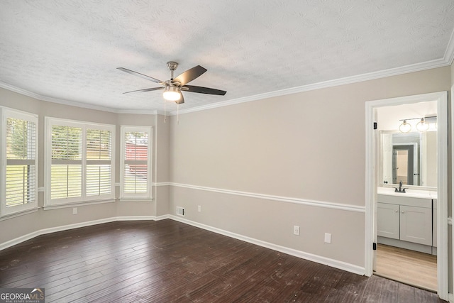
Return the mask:
<svg viewBox="0 0 454 303"><path fill-rule="evenodd" d="M382 184L437 187L437 132L380 131Z"/></svg>

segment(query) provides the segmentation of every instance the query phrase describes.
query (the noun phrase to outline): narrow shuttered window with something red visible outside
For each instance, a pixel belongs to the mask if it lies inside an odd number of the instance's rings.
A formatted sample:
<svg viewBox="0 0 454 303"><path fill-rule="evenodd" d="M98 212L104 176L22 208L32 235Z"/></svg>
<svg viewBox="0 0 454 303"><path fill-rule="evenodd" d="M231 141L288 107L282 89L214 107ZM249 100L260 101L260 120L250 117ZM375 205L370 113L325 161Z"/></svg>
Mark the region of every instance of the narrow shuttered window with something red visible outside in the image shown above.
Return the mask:
<svg viewBox="0 0 454 303"><path fill-rule="evenodd" d="M121 126L121 198L151 198L151 130Z"/></svg>

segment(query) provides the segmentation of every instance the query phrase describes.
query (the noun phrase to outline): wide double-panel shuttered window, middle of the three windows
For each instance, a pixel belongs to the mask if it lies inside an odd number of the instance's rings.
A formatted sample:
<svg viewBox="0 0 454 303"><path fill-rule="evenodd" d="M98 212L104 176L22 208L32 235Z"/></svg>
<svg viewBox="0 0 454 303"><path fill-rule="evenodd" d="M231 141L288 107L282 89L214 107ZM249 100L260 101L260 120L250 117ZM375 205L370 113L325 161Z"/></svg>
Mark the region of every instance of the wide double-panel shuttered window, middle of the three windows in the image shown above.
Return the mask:
<svg viewBox="0 0 454 303"><path fill-rule="evenodd" d="M46 133L46 205L115 197L115 126L46 118Z"/></svg>

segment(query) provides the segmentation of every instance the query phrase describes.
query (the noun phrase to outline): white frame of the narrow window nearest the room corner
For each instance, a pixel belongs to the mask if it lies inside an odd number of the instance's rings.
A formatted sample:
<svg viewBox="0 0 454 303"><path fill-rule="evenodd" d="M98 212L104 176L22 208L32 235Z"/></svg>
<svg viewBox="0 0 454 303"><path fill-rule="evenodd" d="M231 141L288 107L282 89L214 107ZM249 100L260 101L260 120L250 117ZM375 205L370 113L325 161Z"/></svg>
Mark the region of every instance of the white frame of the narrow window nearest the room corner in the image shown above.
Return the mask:
<svg viewBox="0 0 454 303"><path fill-rule="evenodd" d="M140 132L148 134L148 145L147 145L147 192L145 193L126 193L125 192L125 177L124 177L124 167L125 167L125 155L126 155L126 140L125 134L128 132ZM153 126L126 126L122 125L120 127L121 133L121 152L120 152L120 199L153 199Z"/></svg>

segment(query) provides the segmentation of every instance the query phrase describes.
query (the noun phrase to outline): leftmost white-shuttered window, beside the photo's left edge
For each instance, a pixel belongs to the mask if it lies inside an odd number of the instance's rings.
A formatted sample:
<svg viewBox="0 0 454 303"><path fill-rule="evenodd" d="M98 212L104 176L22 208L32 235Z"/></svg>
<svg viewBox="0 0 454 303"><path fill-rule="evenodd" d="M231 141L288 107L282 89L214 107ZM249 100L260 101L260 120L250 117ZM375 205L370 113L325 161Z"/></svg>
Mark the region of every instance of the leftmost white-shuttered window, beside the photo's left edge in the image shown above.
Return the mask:
<svg viewBox="0 0 454 303"><path fill-rule="evenodd" d="M0 108L1 215L38 207L38 116Z"/></svg>

